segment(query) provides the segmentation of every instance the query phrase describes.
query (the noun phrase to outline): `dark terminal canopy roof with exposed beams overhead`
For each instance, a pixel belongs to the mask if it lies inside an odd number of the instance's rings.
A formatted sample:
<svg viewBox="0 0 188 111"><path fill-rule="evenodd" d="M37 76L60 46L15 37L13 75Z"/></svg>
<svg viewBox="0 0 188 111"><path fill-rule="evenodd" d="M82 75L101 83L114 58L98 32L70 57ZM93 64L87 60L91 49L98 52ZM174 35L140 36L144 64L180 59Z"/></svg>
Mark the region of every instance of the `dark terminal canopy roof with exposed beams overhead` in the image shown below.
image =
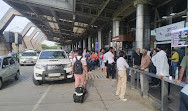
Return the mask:
<svg viewBox="0 0 188 111"><path fill-rule="evenodd" d="M4 1L40 28L48 40L61 44L78 42L107 22L122 20L136 11L134 0Z"/></svg>

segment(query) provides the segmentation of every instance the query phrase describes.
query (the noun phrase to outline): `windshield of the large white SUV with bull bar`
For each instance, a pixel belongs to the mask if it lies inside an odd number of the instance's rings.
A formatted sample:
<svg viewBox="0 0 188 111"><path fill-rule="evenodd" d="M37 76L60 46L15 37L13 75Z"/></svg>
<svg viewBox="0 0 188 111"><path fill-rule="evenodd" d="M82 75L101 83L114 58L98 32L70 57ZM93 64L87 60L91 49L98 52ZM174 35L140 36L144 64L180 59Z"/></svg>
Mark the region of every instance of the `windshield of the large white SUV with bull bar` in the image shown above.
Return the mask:
<svg viewBox="0 0 188 111"><path fill-rule="evenodd" d="M64 51L43 51L39 59L65 59L67 58Z"/></svg>

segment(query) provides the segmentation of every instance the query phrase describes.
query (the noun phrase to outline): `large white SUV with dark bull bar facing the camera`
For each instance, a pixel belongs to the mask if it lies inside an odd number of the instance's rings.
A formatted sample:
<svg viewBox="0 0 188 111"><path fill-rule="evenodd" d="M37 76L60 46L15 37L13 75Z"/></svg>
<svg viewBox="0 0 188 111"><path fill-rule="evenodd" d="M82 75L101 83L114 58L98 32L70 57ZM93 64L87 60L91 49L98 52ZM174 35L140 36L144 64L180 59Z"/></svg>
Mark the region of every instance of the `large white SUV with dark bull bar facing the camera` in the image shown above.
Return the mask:
<svg viewBox="0 0 188 111"><path fill-rule="evenodd" d="M33 83L40 85L45 81L69 79L72 81L72 65L63 50L44 50L34 66Z"/></svg>

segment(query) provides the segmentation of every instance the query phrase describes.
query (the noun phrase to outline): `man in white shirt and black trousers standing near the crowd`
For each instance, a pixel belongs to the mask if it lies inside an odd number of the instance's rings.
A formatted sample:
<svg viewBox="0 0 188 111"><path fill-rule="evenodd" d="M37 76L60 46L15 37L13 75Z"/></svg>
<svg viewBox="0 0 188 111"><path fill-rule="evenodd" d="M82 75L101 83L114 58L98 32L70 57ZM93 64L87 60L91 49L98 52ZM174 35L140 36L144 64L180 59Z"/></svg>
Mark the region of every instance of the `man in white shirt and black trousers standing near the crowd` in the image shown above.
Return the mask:
<svg viewBox="0 0 188 111"><path fill-rule="evenodd" d="M104 55L104 63L107 66L107 77L112 76L115 79L115 65L114 65L114 55L112 53L113 48L110 47L109 51Z"/></svg>

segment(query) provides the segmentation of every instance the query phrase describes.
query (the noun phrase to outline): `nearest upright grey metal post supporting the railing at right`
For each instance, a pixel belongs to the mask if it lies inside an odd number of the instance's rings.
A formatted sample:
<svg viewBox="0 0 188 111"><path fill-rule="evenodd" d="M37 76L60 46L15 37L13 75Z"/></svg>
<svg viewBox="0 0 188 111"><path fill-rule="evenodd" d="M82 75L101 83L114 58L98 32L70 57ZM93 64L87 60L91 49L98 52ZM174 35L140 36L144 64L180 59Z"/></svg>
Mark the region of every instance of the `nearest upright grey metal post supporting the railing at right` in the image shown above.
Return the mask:
<svg viewBox="0 0 188 111"><path fill-rule="evenodd" d="M168 82L161 80L161 111L168 111Z"/></svg>

